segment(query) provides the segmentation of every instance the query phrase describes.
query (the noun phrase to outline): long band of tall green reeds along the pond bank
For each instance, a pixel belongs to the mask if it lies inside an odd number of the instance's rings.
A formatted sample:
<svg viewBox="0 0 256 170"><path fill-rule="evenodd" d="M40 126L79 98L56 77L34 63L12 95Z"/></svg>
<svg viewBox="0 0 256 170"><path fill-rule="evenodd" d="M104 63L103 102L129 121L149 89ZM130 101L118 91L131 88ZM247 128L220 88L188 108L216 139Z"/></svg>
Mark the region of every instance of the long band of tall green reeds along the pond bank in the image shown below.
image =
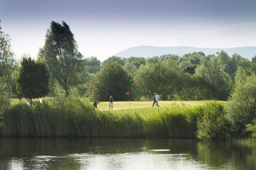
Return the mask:
<svg viewBox="0 0 256 170"><path fill-rule="evenodd" d="M208 105L172 108L164 112L103 112L88 102L67 98L62 105L47 102L5 110L1 136L87 136L196 138L197 119Z"/></svg>

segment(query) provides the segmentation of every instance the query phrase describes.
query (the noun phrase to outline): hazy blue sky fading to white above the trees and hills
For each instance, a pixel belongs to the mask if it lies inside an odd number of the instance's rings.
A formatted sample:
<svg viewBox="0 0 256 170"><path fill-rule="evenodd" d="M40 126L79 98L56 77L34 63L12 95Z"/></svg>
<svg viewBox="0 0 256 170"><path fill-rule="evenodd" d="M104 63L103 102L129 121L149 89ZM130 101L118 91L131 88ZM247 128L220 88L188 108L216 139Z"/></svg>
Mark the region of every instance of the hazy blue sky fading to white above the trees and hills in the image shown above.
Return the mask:
<svg viewBox="0 0 256 170"><path fill-rule="evenodd" d="M65 21L85 56L101 61L139 45L256 46L256 1L0 0L17 58L36 57L50 22Z"/></svg>

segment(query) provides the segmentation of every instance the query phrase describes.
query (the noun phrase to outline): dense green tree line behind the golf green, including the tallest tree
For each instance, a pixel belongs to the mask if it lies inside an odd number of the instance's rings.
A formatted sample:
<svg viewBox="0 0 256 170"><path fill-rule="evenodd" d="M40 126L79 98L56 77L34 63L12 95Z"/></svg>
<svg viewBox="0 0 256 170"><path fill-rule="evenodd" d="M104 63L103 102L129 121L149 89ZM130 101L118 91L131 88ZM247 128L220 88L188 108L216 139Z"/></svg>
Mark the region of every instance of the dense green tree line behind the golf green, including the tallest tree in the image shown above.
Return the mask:
<svg viewBox="0 0 256 170"><path fill-rule="evenodd" d="M24 97L16 87L20 63L14 58L9 35L0 33L0 77L5 77L12 97ZM102 62L95 56L84 58L64 21L50 23L37 57L49 68L48 95L55 96L58 82L66 95L75 87L79 96L91 100L107 100L109 95L127 100L123 93L128 90L133 100L152 100L155 92L160 93L161 100L227 100L235 88L238 67L247 74L256 72L256 56L250 61L238 54L229 56L223 50L212 55L193 52L149 58L111 56Z"/></svg>

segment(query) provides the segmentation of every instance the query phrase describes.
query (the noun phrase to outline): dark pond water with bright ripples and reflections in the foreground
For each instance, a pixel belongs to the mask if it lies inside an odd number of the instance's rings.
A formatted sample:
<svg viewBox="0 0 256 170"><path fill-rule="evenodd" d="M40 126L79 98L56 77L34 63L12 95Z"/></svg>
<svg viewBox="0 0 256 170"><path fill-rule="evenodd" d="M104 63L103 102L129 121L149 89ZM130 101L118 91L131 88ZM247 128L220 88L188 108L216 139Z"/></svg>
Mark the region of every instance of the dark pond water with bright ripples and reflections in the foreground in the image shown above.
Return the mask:
<svg viewBox="0 0 256 170"><path fill-rule="evenodd" d="M256 148L145 138L0 138L0 169L255 170Z"/></svg>

